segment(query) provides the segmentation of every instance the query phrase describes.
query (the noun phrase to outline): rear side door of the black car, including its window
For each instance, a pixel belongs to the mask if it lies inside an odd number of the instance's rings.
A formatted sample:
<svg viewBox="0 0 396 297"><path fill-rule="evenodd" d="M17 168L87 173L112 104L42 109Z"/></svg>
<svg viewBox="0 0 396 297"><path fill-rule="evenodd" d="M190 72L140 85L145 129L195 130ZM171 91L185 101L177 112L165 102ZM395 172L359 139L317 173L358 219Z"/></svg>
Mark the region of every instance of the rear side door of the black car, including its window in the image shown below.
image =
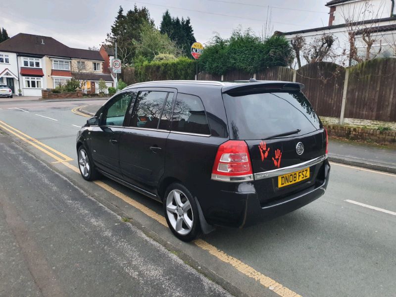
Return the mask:
<svg viewBox="0 0 396 297"><path fill-rule="evenodd" d="M139 89L131 118L121 133L120 168L124 180L154 195L164 171L175 96L175 89Z"/></svg>

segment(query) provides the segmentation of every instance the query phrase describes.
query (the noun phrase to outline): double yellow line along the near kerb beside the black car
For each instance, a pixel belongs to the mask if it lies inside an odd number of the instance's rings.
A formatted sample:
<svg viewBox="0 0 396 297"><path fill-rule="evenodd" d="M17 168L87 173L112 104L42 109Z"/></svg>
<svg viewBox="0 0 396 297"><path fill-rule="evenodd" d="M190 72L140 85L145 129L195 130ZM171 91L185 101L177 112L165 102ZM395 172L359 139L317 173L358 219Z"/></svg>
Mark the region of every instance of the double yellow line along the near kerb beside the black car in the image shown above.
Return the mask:
<svg viewBox="0 0 396 297"><path fill-rule="evenodd" d="M84 115L84 116L86 116L86 115ZM10 125L7 125L3 121L0 121L0 128L2 128L4 131L7 131L8 133L16 136L17 138L21 139L22 141L30 144L31 146L41 150L42 152L44 152L47 155L54 158L55 161L52 163L61 163L61 164L65 165L66 167L70 168L71 170L73 170L74 172L80 174L80 170L78 169L78 167L69 163L69 161L72 161L73 159L64 155L60 151L57 151L56 149L51 148L51 147L39 142L38 140L34 139L33 137L30 137L29 135L26 135L25 133L11 127ZM97 184L102 189L106 190L107 192L111 193L112 195L120 198L121 200L125 201L126 203L139 209L141 212L145 213L146 215L148 215L152 219L156 220L163 226L168 227L165 218L162 215L160 215L160 214L156 213L155 211L151 210L150 208L148 208L146 205L130 198L129 196L117 191L116 189L110 187L109 185L107 185L101 181L95 181L94 183ZM262 273L258 272L254 268L245 264L244 262L238 260L237 258L234 258L233 256L226 254L224 251L219 250L217 247L214 247L201 239L196 240L194 242L194 244L204 250L207 250L211 255L215 256L219 260L232 265L239 272L243 273L244 275L246 275L249 278L256 280L263 287L268 288L269 290L272 290L279 296L301 297L296 292L293 292L292 290L282 286L280 283L263 275Z"/></svg>

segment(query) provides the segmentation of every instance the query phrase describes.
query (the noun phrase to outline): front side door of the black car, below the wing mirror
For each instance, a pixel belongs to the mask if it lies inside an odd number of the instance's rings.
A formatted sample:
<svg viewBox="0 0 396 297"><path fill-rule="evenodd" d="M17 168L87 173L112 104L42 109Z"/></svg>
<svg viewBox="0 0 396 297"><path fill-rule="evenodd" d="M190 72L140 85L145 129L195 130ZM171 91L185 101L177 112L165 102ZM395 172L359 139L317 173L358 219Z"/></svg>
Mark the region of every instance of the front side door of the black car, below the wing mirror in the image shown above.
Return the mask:
<svg viewBox="0 0 396 297"><path fill-rule="evenodd" d="M133 92L122 93L102 108L99 125L90 131L92 158L95 165L105 173L121 178L119 166L119 140L124 120L133 99Z"/></svg>

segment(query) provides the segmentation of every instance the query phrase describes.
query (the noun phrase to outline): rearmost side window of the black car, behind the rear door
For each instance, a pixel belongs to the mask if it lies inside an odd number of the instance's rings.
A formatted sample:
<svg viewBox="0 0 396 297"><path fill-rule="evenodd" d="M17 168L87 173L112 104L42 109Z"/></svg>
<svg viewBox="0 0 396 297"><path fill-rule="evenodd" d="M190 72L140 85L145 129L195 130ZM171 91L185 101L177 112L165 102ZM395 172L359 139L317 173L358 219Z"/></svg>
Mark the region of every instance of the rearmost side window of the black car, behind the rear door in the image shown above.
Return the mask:
<svg viewBox="0 0 396 297"><path fill-rule="evenodd" d="M172 131L210 134L205 109L199 97L177 94L173 110Z"/></svg>

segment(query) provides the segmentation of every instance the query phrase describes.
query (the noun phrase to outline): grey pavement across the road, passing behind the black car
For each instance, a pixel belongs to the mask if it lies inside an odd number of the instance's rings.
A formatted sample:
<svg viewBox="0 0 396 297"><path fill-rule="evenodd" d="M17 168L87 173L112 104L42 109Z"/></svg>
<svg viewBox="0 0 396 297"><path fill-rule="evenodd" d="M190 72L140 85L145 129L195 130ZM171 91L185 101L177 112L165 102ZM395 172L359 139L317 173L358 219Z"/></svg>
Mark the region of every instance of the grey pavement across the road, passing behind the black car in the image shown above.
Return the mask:
<svg viewBox="0 0 396 297"><path fill-rule="evenodd" d="M90 104L79 110L93 116L100 106L101 104ZM329 160L396 173L396 147L375 147L374 145L329 139Z"/></svg>

